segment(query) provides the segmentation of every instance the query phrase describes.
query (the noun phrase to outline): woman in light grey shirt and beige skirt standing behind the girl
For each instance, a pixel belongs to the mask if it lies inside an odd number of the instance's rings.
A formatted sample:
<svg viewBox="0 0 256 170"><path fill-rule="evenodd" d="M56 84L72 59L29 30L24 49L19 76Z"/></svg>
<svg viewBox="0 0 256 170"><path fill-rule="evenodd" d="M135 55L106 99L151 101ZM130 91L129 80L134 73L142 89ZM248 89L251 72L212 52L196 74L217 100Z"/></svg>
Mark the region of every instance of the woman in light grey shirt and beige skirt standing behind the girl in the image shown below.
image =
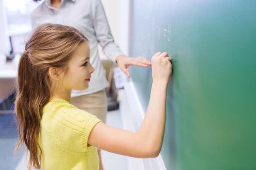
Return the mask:
<svg viewBox="0 0 256 170"><path fill-rule="evenodd" d="M130 76L127 70L129 65L148 67L150 61L145 57L125 56L119 49L112 37L101 0L45 0L31 13L32 28L44 23L74 26L90 40L90 62L95 68L94 75L97 76L92 76L88 89L72 90L70 102L79 109L96 115L105 123L108 111L105 89L108 87L108 81L101 65L98 44L106 57L116 63L127 77ZM99 148L98 155L99 169L103 170Z"/></svg>

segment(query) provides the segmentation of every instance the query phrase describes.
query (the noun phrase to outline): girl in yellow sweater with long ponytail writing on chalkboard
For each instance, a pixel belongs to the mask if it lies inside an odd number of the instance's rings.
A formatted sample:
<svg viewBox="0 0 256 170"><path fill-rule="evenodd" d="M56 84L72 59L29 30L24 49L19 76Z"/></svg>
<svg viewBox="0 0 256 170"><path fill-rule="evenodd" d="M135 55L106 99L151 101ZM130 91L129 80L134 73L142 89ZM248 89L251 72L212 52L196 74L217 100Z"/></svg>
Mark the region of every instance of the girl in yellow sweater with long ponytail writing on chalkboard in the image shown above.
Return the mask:
<svg viewBox="0 0 256 170"><path fill-rule="evenodd" d="M164 136L170 61L166 52L151 59L150 101L138 133L117 129L70 104L72 89L87 89L93 76L88 39L70 26L38 26L20 58L15 101L16 149L25 142L28 168L98 170L96 147L131 157L157 157Z"/></svg>

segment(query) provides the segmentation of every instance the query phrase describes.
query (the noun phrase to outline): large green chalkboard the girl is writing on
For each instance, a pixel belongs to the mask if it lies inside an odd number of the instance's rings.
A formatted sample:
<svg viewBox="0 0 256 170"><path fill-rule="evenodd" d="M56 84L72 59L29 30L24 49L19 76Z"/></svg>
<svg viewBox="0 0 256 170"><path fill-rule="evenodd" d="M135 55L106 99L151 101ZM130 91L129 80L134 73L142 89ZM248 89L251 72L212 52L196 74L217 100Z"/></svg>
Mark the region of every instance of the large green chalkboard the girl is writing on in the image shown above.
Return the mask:
<svg viewBox="0 0 256 170"><path fill-rule="evenodd" d="M157 51L173 63L166 169L255 170L256 1L133 1L132 56ZM146 111L151 68L132 81Z"/></svg>

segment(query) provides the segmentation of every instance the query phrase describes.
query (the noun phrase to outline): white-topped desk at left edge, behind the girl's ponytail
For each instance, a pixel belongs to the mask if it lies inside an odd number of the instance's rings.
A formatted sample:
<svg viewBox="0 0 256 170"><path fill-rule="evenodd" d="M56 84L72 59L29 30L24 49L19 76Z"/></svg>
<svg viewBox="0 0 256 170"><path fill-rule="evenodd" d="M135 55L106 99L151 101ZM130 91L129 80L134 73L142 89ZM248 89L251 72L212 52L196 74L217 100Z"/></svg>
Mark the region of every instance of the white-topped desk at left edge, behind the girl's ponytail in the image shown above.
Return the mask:
<svg viewBox="0 0 256 170"><path fill-rule="evenodd" d="M11 62L6 62L6 58L0 55L0 103L15 89L18 62L20 55L16 55Z"/></svg>

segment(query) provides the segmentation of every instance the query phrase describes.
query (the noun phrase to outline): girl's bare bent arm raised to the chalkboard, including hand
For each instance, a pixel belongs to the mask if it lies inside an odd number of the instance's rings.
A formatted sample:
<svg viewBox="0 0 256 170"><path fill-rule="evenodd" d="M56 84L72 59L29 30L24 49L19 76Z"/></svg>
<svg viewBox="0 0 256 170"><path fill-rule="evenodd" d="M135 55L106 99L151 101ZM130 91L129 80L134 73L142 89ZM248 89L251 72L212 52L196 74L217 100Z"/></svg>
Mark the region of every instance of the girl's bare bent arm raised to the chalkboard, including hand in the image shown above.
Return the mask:
<svg viewBox="0 0 256 170"><path fill-rule="evenodd" d="M92 129L88 144L130 157L157 157L162 148L166 114L166 91L172 72L171 58L157 52L151 59L153 83L144 120L138 133L99 122Z"/></svg>

